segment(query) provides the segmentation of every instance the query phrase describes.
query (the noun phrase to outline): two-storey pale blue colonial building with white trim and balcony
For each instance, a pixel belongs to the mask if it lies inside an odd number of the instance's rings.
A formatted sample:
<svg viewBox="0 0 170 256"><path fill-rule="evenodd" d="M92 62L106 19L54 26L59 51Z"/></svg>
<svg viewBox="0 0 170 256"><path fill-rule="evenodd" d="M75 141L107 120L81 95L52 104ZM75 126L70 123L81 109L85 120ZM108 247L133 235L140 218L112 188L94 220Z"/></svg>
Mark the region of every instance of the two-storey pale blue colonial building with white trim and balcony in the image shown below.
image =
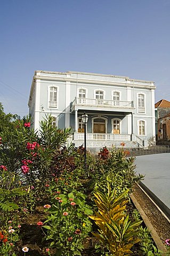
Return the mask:
<svg viewBox="0 0 170 256"><path fill-rule="evenodd" d="M113 145L144 147L155 143L154 82L125 76L76 71L35 71L29 96L34 129L45 114L53 125L74 129L73 142L84 143L81 116L88 115L87 148Z"/></svg>

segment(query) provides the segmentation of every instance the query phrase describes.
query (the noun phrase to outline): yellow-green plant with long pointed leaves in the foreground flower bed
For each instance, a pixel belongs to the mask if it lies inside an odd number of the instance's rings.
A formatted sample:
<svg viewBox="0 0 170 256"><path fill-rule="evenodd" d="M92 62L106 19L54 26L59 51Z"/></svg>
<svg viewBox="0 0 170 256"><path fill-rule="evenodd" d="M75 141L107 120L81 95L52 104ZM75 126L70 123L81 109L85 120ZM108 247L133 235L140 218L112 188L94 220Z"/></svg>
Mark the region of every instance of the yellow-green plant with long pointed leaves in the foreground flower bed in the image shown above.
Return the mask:
<svg viewBox="0 0 170 256"><path fill-rule="evenodd" d="M137 227L142 223L138 220L131 222L126 215L126 204L128 202L128 189L116 196L116 190L111 191L108 183L108 194L100 191L94 193L98 212L95 216L89 216L99 227L99 233L92 233L107 247L108 255L127 256L132 253L132 246L139 242Z"/></svg>

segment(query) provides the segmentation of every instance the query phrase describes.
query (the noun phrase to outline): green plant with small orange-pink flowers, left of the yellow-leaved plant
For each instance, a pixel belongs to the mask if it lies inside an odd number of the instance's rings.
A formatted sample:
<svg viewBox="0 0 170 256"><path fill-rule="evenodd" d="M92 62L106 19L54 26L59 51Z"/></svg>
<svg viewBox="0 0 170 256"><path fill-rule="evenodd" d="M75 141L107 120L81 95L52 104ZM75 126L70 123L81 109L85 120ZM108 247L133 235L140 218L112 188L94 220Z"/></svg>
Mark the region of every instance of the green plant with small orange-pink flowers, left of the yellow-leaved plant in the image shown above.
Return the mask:
<svg viewBox="0 0 170 256"><path fill-rule="evenodd" d="M76 190L53 197L43 228L47 230L46 240L50 240L50 246L58 249L56 255L82 255L83 239L91 231L87 215L93 212L85 199L86 196Z"/></svg>

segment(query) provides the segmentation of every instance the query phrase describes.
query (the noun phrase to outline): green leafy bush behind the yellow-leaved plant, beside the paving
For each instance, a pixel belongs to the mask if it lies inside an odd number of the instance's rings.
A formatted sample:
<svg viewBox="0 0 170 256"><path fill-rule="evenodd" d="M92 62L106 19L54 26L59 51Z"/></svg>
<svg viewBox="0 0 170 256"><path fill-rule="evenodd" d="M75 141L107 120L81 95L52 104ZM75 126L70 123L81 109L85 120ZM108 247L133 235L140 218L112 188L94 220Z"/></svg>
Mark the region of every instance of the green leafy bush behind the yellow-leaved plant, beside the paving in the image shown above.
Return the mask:
<svg viewBox="0 0 170 256"><path fill-rule="evenodd" d="M108 153L107 148L103 148L96 161L95 183L92 186L106 191L106 179L108 179L111 188L116 188L117 195L127 189L132 190L134 182L138 182L143 176L135 174L134 158L126 157L126 155L122 149L112 149Z"/></svg>

